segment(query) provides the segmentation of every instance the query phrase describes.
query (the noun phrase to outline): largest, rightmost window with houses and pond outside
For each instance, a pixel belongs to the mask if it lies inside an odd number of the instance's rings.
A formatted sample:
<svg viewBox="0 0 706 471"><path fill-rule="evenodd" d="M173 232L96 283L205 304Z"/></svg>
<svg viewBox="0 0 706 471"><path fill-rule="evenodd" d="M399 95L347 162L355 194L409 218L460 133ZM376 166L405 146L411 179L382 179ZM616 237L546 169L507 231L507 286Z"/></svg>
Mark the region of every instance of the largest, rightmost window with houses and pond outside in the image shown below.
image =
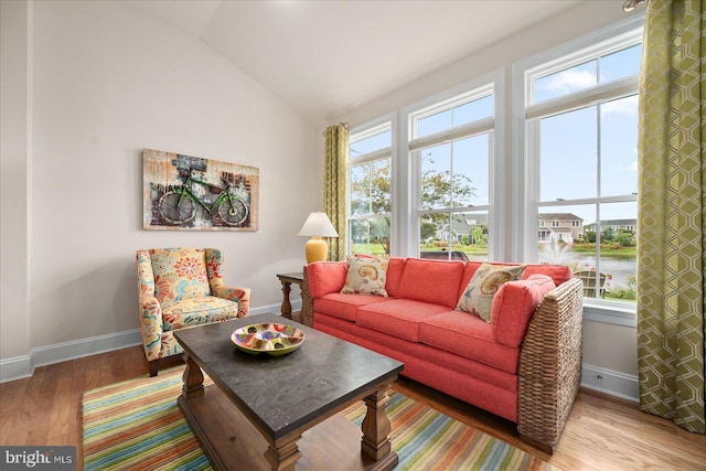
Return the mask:
<svg viewBox="0 0 706 471"><path fill-rule="evenodd" d="M634 309L637 299L641 25L635 19L515 66L528 208L516 213L527 237L516 245L527 260L571 267L593 287L587 303L609 309ZM533 217L552 218L550 231L536 236Z"/></svg>

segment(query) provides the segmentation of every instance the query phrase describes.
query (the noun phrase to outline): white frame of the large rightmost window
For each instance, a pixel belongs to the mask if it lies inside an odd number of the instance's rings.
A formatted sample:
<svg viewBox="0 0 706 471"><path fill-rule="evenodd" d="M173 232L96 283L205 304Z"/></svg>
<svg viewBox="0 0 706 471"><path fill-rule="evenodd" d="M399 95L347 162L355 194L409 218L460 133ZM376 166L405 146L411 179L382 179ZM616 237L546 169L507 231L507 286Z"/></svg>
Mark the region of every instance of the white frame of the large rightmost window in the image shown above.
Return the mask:
<svg viewBox="0 0 706 471"><path fill-rule="evenodd" d="M539 142L537 127L543 117L556 116L586 106L595 106L611 99L639 94L638 78L631 76L605 84L598 84L587 90L575 92L567 97L557 97L531 104L532 81L539 76L560 72L573 65L585 63L595 54L605 56L642 41L644 12L633 15L611 26L578 38L543 53L526 57L512 65L512 119L513 119L513 188L516 189L512 202L513 231L512 251L517 259L537 260L538 234L536 222L541 207L560 208L580 204L605 204L612 202L637 201L620 196L598 196L584 200L557 201L544 204L539 201ZM600 100L600 101L599 101ZM592 101L592 103L591 103ZM534 128L533 128L534 127ZM597 176L600 178L600 174ZM597 214L597 221L600 214ZM584 314L588 320L611 324L634 327L637 303L586 298Z"/></svg>

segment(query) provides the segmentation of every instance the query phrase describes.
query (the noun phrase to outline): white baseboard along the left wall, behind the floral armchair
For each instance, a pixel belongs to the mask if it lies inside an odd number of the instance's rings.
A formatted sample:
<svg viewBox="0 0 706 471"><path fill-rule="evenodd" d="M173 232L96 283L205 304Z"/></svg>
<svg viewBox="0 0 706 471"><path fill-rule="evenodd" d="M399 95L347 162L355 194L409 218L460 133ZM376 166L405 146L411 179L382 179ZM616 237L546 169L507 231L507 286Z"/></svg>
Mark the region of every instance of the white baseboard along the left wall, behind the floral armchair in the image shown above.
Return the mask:
<svg viewBox="0 0 706 471"><path fill-rule="evenodd" d="M301 309L301 299L293 300L291 304L293 310ZM250 310L250 315L279 312L280 306L281 304L277 303L254 308ZM140 330L133 329L71 342L55 343L53 345L38 346L32 349L29 355L0 360L0 383L30 377L34 374L34 368L38 366L83 358L84 356L127 349L128 346L140 345L141 343Z"/></svg>

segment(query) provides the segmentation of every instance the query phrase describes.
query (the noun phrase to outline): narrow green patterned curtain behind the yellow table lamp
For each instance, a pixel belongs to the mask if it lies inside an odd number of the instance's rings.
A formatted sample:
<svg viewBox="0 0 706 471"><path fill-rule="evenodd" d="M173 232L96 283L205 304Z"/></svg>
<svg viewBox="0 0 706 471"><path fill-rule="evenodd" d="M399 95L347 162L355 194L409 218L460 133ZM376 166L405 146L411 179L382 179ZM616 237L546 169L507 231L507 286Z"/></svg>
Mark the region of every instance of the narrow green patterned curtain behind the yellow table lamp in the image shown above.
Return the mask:
<svg viewBox="0 0 706 471"><path fill-rule="evenodd" d="M329 215L339 237L327 238L329 260L345 259L345 196L349 162L349 125L329 126L323 132L323 212Z"/></svg>

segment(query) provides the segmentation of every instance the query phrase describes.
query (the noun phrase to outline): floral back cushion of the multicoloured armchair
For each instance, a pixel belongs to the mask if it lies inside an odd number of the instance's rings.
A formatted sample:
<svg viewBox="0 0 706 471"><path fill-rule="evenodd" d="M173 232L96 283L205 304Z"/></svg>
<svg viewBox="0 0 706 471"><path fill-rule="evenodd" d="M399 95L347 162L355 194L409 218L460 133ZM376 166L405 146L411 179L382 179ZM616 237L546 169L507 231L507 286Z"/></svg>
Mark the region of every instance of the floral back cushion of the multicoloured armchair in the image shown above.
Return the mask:
<svg viewBox="0 0 706 471"><path fill-rule="evenodd" d="M203 248L179 247L150 250L154 297L160 303L211 296Z"/></svg>

